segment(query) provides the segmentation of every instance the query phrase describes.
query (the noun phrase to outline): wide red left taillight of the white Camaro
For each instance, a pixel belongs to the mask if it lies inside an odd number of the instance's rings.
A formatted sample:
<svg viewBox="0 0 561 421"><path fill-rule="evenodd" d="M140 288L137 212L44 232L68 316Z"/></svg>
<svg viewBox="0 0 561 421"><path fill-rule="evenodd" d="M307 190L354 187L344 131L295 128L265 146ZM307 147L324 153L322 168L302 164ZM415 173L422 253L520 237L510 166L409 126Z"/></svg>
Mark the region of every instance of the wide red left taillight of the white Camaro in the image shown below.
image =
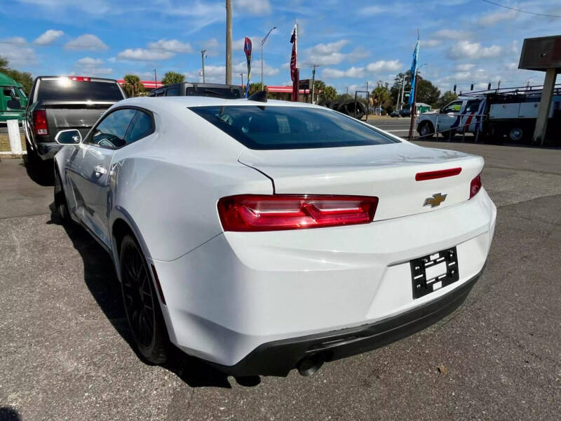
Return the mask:
<svg viewBox="0 0 561 421"><path fill-rule="evenodd" d="M309 194L239 194L218 201L224 231L277 231L367 224L378 198Z"/></svg>

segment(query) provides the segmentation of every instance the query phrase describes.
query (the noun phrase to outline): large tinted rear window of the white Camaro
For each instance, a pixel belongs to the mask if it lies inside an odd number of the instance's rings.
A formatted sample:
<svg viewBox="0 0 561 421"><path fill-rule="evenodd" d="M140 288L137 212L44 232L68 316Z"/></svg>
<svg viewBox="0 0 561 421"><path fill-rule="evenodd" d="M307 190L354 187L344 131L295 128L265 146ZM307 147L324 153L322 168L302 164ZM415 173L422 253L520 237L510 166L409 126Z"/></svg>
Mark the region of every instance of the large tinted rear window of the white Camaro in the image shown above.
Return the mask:
<svg viewBox="0 0 561 421"><path fill-rule="evenodd" d="M399 142L330 109L274 105L189 109L250 149L308 149Z"/></svg>

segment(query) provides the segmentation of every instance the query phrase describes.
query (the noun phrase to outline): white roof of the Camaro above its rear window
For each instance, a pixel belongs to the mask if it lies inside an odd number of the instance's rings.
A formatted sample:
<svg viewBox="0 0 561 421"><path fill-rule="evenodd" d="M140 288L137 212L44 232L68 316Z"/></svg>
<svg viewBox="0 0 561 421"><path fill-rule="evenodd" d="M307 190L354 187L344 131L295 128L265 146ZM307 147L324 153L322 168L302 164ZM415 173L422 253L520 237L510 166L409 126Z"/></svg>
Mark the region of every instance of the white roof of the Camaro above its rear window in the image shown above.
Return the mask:
<svg viewBox="0 0 561 421"><path fill-rule="evenodd" d="M227 100L224 98L203 97L203 96L169 96L169 97L136 97L128 98L116 103L115 106L122 107L124 105L135 105L137 107L150 108L154 107L168 108L168 107L203 107L203 106L227 106L227 105L254 105L257 107L266 107L270 105L280 107L309 107L321 108L318 105L306 104L305 102L290 102L280 100L267 100L267 102L250 101L245 98L235 100Z"/></svg>

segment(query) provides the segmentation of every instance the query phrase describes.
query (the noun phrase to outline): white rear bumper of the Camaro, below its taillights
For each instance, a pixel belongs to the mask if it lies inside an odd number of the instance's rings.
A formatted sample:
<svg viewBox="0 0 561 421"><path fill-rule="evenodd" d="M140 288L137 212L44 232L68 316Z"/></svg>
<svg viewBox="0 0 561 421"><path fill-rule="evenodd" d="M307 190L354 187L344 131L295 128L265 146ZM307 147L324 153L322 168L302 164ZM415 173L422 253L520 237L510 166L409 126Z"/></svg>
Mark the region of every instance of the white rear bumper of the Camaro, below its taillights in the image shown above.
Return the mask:
<svg viewBox="0 0 561 421"><path fill-rule="evenodd" d="M151 263L175 345L236 373L243 373L245 359L259 349L272 367L283 369L262 370L260 363L252 363L250 373L279 373L293 367L308 348L295 345L288 363L271 361L276 349L271 344L278 341L321 342L337 331L370 331L365 326L383 332L386 321L405 314L410 314L406 319L419 319L419 328L428 326L415 314L433 302L442 306L454 291L465 291L473 283L487 260L495 219L496 207L481 189L473 199L454 206L367 225L226 232L176 260ZM459 279L413 298L410 260L454 247ZM403 328L405 335L407 329ZM370 336L372 342L387 343L382 340L385 334ZM370 340L363 343L370 349ZM265 344L273 351L264 351ZM356 345L358 352L362 347ZM341 356L345 349L340 349Z"/></svg>

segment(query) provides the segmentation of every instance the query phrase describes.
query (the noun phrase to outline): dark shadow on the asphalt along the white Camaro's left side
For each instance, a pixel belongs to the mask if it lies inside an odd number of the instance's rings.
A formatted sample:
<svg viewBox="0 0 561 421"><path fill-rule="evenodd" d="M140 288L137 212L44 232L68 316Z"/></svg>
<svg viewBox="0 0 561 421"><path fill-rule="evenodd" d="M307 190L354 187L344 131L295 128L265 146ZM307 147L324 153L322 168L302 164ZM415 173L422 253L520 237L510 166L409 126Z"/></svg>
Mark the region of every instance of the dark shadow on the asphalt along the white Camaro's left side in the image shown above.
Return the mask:
<svg viewBox="0 0 561 421"><path fill-rule="evenodd" d="M50 206L50 221L48 224L60 224L54 203ZM126 340L133 352L142 363L151 365L145 361L137 352L133 335L128 327L121 285L117 279L113 261L109 254L93 239L86 229L77 224L63 225L74 248L78 250L83 260L84 281L100 306L111 325ZM190 387L223 387L231 388L228 376L219 370L209 366L201 359L184 354L184 352L172 347L170 359L163 368L175 373ZM236 378L239 385L256 386L260 380L255 377Z"/></svg>

